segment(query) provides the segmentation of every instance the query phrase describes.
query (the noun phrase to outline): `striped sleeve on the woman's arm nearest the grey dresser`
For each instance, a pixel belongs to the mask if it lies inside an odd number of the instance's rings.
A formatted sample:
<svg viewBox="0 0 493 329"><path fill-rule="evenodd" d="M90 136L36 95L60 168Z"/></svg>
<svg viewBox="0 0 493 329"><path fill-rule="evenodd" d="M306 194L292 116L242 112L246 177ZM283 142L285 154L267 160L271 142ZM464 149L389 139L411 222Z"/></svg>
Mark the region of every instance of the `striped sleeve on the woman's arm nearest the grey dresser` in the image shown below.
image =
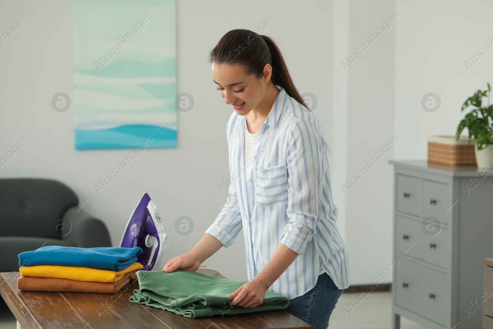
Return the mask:
<svg viewBox="0 0 493 329"><path fill-rule="evenodd" d="M318 199L325 141L318 122L300 118L292 124L287 142L287 210L289 219L280 243L298 255L318 228Z"/></svg>

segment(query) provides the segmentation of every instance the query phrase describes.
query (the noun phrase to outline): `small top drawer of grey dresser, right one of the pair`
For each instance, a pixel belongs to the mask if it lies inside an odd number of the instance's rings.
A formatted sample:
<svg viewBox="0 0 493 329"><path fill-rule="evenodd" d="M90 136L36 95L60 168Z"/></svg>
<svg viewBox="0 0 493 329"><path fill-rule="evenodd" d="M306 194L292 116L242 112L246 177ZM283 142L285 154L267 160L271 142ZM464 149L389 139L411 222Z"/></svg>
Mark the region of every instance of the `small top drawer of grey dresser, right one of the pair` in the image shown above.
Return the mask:
<svg viewBox="0 0 493 329"><path fill-rule="evenodd" d="M452 206L450 185L423 180L423 217L435 216L442 223L450 224Z"/></svg>

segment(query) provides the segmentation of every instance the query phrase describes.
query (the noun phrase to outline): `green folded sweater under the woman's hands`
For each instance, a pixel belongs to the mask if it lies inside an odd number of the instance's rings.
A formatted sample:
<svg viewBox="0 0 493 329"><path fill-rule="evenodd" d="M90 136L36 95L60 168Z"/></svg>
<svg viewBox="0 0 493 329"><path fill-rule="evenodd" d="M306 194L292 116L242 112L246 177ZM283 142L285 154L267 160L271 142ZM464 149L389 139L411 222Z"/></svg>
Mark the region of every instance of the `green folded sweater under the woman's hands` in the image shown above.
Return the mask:
<svg viewBox="0 0 493 329"><path fill-rule="evenodd" d="M175 270L137 271L139 289L129 298L133 303L145 304L181 314L189 318L213 315L234 315L267 310L282 310L289 299L267 291L262 304L253 308L229 305L235 292L246 282L222 279L195 271Z"/></svg>

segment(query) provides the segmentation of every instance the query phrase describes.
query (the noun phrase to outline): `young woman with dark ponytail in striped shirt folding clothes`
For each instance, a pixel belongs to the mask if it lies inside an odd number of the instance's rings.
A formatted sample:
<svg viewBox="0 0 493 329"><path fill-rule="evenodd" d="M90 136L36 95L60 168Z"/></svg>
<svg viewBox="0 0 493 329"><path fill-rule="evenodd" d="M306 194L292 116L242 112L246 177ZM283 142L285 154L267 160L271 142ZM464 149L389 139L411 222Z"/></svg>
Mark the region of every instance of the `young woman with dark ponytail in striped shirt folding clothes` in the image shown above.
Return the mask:
<svg viewBox="0 0 493 329"><path fill-rule="evenodd" d="M233 106L227 124L229 196L195 248L163 268L196 271L243 229L248 282L230 304L256 307L270 290L287 312L326 329L349 286L346 247L336 225L327 145L303 106L270 37L226 33L212 49L214 83Z"/></svg>

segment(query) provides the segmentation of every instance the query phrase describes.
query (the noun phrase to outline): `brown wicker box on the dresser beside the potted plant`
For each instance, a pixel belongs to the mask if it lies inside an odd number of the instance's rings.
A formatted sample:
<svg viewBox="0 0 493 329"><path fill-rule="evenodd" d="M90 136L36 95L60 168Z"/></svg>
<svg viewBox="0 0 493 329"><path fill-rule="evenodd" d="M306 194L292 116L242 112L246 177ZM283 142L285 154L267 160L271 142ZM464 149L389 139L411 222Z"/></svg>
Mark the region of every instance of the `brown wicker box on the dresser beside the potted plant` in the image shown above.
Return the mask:
<svg viewBox="0 0 493 329"><path fill-rule="evenodd" d="M448 166L476 165L474 140L460 135L459 140L453 135L428 136L428 162Z"/></svg>

